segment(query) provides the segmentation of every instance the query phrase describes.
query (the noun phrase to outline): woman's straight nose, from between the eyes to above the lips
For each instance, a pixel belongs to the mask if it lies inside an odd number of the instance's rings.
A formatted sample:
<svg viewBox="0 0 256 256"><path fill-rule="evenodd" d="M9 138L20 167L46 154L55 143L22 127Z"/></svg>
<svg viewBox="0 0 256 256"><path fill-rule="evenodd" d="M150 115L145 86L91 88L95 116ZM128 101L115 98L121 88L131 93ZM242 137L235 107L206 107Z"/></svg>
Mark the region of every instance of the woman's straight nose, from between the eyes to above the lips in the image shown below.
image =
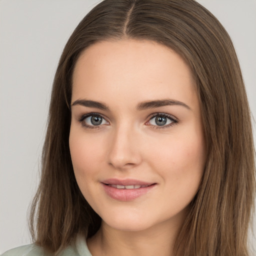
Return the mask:
<svg viewBox="0 0 256 256"><path fill-rule="evenodd" d="M109 142L108 164L115 169L128 169L141 162L139 134L130 127L116 128Z"/></svg>

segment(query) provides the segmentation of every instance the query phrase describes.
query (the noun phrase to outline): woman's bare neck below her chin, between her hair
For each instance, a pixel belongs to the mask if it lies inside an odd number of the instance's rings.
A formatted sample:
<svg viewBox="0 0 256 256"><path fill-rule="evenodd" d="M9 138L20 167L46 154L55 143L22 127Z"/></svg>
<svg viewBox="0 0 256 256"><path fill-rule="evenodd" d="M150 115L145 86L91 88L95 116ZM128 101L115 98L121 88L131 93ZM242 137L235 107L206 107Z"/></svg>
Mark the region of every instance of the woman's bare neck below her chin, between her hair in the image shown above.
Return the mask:
<svg viewBox="0 0 256 256"><path fill-rule="evenodd" d="M87 240L88 248L93 256L173 256L183 220L178 216L178 219L168 219L139 231L118 230L102 220L97 233Z"/></svg>

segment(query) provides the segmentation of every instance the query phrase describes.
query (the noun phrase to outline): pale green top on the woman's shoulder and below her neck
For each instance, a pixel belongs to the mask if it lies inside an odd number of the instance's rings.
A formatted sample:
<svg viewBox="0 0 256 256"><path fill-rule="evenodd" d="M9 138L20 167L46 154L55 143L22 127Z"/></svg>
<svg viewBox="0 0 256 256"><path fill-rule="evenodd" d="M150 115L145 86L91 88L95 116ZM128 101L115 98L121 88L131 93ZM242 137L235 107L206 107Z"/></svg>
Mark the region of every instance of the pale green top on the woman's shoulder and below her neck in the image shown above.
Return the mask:
<svg viewBox="0 0 256 256"><path fill-rule="evenodd" d="M1 256L50 256L36 244L19 246L4 252ZM59 256L92 256L83 237L77 237L73 246L66 247Z"/></svg>

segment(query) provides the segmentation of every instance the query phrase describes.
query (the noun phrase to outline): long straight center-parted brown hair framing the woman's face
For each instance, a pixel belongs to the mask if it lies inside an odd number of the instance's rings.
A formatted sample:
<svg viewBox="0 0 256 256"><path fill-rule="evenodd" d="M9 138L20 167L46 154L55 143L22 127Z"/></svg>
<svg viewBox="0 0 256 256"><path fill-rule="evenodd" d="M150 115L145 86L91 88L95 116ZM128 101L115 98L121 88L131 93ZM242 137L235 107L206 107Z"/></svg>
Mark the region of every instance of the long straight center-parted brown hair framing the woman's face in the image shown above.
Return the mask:
<svg viewBox="0 0 256 256"><path fill-rule="evenodd" d="M194 0L103 0L75 28L51 92L41 181L31 207L34 240L57 254L78 233L89 237L100 226L100 217L78 188L69 153L72 72L89 45L123 38L152 40L174 49L196 80L207 159L175 252L248 255L255 167L246 92L230 37Z"/></svg>

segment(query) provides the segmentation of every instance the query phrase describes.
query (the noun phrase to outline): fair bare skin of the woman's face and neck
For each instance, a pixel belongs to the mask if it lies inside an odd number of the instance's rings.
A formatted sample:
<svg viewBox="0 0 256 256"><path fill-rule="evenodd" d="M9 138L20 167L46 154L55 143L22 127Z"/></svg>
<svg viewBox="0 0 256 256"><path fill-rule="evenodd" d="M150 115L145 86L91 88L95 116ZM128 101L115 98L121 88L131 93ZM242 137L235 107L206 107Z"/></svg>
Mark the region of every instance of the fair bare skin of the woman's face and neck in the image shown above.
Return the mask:
<svg viewBox="0 0 256 256"><path fill-rule="evenodd" d="M88 107L77 100L104 103ZM172 104L139 110L144 101ZM76 103L74 103L76 101ZM195 82L186 62L148 40L97 42L78 58L73 72L70 153L78 186L102 218L87 240L97 255L172 255L176 235L202 177L204 137ZM104 119L92 126L90 112ZM159 126L154 114L177 120ZM91 128L85 127L90 125ZM111 198L107 178L135 178L156 185L130 201Z"/></svg>

